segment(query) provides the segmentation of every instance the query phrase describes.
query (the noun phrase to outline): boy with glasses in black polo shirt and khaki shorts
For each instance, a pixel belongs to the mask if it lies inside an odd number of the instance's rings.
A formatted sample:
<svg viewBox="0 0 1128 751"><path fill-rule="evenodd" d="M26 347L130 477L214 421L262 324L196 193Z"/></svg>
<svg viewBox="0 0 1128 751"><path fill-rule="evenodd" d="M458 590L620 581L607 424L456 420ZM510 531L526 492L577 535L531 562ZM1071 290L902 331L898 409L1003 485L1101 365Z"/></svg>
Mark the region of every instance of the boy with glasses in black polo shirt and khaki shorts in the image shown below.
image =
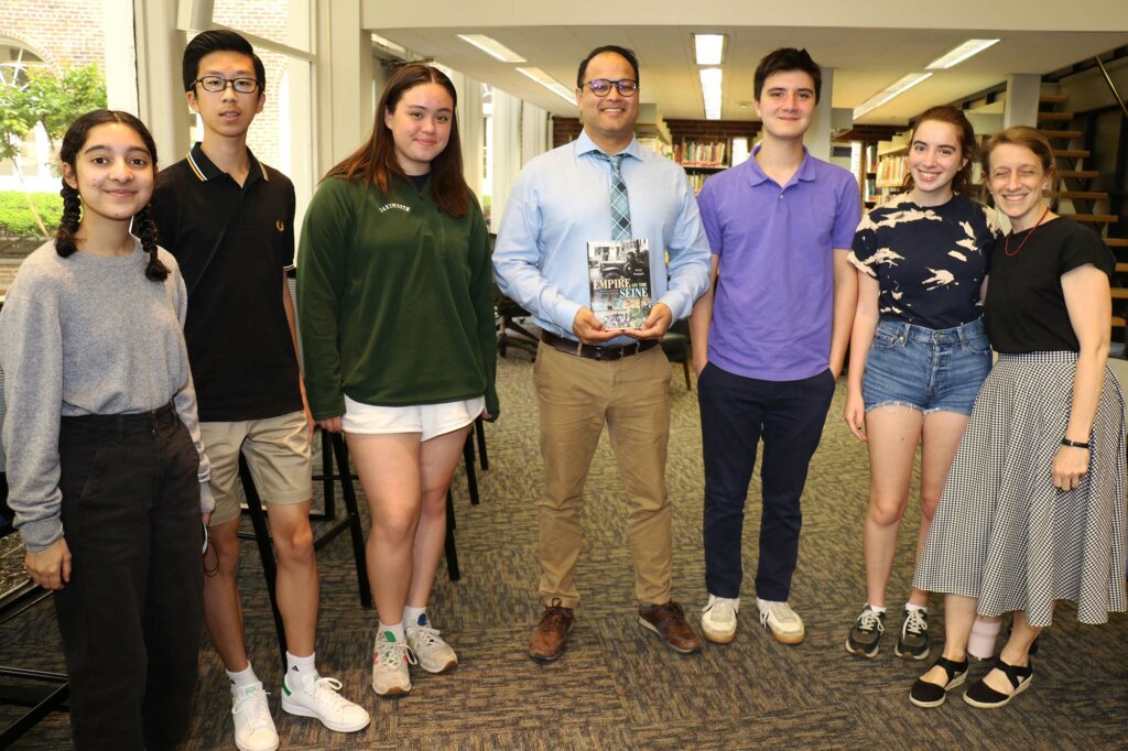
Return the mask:
<svg viewBox="0 0 1128 751"><path fill-rule="evenodd" d="M277 604L290 650L282 708L342 732L369 724L368 713L341 697L340 683L320 678L314 664L314 422L284 274L293 260L294 191L285 175L247 149L247 129L265 101L265 79L262 61L233 32L204 32L188 43L185 96L204 138L161 171L152 198L160 245L176 256L188 286L184 333L215 494L209 534L218 560L205 560L212 565L205 567L204 619L231 679L240 751L279 745L266 693L247 660L235 576L240 451L267 504L277 557Z"/></svg>

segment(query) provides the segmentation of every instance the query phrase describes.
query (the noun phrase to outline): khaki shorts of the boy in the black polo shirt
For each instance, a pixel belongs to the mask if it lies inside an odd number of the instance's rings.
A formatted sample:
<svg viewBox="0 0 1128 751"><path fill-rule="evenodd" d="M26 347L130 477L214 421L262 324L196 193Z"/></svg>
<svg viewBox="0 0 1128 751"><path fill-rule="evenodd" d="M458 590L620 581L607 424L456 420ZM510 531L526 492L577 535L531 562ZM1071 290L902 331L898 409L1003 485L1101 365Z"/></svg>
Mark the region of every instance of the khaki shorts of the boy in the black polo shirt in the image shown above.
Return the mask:
<svg viewBox="0 0 1128 751"><path fill-rule="evenodd" d="M246 500L239 480L240 450L247 457L263 503L288 505L312 495L305 413L235 423L200 423L200 435L211 459L211 489L215 496L209 527L239 516L239 506Z"/></svg>

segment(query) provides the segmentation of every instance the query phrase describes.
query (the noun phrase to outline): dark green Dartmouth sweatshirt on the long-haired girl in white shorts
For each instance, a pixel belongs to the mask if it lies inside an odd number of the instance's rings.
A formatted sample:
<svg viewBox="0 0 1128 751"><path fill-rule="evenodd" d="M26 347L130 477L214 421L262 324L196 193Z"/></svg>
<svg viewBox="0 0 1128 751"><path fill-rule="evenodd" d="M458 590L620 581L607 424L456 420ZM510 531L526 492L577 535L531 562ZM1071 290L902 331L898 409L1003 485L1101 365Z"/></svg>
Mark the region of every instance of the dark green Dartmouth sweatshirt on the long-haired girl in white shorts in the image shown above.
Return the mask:
<svg viewBox="0 0 1128 751"><path fill-rule="evenodd" d="M496 334L493 270L477 201L441 212L430 182L393 177L391 195L329 178L314 195L298 250L306 391L316 419L344 395L398 407L485 395L491 417Z"/></svg>

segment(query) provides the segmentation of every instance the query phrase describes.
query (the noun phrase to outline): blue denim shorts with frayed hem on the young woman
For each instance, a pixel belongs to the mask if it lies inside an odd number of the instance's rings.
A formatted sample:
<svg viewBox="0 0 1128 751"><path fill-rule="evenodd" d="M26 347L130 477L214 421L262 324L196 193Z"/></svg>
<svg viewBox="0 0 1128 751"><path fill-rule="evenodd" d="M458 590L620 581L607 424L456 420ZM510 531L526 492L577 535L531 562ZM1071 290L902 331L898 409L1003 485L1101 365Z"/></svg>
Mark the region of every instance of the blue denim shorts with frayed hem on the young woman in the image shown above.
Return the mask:
<svg viewBox="0 0 1128 751"><path fill-rule="evenodd" d="M990 366L981 320L943 329L882 320L865 360L865 410L901 405L970 415Z"/></svg>

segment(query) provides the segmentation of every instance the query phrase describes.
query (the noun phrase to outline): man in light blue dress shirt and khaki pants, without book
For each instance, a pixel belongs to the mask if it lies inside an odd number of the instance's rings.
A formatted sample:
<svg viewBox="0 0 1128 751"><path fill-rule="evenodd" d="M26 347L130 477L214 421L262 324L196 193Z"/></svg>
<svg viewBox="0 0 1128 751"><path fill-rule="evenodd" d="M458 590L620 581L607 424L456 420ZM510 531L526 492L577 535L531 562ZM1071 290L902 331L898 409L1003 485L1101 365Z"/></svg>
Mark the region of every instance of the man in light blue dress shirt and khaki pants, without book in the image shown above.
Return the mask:
<svg viewBox="0 0 1128 751"><path fill-rule="evenodd" d="M494 250L502 292L541 328L535 381L545 463L539 502L545 610L529 653L555 660L567 642L580 601L574 572L583 486L605 423L626 486L638 622L671 648L696 652L700 642L670 599L666 454L671 372L658 343L705 292L708 240L685 171L634 138L634 53L618 46L593 50L580 63L576 104L583 133L525 167ZM629 237L649 242L654 306L641 328L615 330L591 310L588 244L618 239L611 202L618 200L613 193L624 187Z"/></svg>

